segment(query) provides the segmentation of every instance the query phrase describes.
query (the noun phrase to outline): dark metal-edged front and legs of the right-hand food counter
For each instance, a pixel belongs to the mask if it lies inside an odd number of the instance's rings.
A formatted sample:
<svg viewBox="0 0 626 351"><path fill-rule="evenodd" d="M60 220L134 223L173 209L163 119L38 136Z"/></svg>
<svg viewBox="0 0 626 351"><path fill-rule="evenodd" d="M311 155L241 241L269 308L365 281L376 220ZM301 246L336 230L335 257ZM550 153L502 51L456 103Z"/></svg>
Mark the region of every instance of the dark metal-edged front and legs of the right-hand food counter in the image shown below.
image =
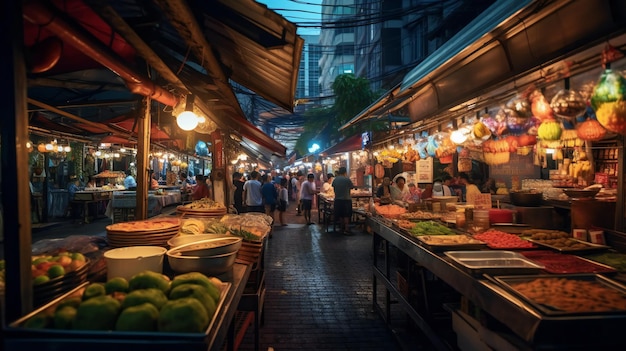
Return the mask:
<svg viewBox="0 0 626 351"><path fill-rule="evenodd" d="M512 294L494 279L488 279L485 275L471 274L446 257L445 253L433 252L420 245L410 235L392 228L388 220L368 217L367 225L374 233L374 307L381 313L385 311L377 305L377 285L380 282L399 300L435 346L443 344L428 324L427 318L419 315L396 285L391 282L389 269L379 268L377 263L379 245L387 246L384 250L386 253L390 252L389 245L396 247L411 260L465 296L476 307L506 326L511 332L509 336L514 336L511 342L519 349L568 348L581 347L581 345L602 348L602 345L612 347L616 344L624 344L620 334L626 328L626 311L598 314L545 314L525 299ZM388 254L384 259L386 262L383 266L388 267ZM386 311L388 314L389 309ZM386 318L388 319L389 316ZM442 348L445 347L442 346Z"/></svg>

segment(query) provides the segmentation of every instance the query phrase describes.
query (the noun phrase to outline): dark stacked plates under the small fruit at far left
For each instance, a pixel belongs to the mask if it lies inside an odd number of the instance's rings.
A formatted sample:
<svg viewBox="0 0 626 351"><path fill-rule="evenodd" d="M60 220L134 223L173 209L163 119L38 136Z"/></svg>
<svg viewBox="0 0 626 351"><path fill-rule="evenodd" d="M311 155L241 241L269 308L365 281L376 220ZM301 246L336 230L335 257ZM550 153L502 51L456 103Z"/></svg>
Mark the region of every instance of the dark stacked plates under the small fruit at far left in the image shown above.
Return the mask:
<svg viewBox="0 0 626 351"><path fill-rule="evenodd" d="M85 264L71 272L33 286L33 304L41 306L66 294L68 291L86 282L88 272L89 261L85 261Z"/></svg>

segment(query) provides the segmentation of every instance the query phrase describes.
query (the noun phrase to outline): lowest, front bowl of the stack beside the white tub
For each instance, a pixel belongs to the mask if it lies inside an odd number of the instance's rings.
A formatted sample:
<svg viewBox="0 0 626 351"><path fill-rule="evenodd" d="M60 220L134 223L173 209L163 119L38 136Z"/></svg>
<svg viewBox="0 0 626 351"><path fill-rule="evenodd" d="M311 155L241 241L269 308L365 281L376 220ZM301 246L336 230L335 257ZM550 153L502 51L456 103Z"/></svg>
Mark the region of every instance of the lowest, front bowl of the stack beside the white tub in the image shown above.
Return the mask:
<svg viewBox="0 0 626 351"><path fill-rule="evenodd" d="M206 275L218 275L228 272L237 259L237 251L216 256L184 256L167 251L167 262L176 273L200 272Z"/></svg>

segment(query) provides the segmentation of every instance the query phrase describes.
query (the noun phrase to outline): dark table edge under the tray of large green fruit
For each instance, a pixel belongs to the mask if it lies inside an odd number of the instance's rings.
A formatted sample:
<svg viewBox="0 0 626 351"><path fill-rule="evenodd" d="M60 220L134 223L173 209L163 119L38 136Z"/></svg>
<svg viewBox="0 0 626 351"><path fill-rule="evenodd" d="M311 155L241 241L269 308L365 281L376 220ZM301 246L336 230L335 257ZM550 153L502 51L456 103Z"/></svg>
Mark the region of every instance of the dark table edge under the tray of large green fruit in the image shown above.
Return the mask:
<svg viewBox="0 0 626 351"><path fill-rule="evenodd" d="M95 351L185 351L222 350L225 343L234 344L229 331L234 328L239 300L250 276L252 265L235 263L232 272L220 276L232 284L223 305L215 316L213 327L206 333L115 333L107 331L71 331L27 329L11 323L5 328L4 349L21 350L95 350ZM33 311L33 315L47 306Z"/></svg>

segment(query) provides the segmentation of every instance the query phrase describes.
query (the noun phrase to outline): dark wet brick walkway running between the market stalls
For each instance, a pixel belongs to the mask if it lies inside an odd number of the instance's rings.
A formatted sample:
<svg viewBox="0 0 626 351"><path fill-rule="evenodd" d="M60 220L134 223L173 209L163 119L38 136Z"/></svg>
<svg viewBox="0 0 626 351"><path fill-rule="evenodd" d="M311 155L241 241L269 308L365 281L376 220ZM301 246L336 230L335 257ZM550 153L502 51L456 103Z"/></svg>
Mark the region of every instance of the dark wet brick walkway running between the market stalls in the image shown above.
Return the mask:
<svg viewBox="0 0 626 351"><path fill-rule="evenodd" d="M311 216L317 222L317 212ZM260 350L396 350L372 310L371 235L305 225L291 206L265 253L266 299ZM332 229L331 229L332 230ZM253 326L239 350L254 350Z"/></svg>

